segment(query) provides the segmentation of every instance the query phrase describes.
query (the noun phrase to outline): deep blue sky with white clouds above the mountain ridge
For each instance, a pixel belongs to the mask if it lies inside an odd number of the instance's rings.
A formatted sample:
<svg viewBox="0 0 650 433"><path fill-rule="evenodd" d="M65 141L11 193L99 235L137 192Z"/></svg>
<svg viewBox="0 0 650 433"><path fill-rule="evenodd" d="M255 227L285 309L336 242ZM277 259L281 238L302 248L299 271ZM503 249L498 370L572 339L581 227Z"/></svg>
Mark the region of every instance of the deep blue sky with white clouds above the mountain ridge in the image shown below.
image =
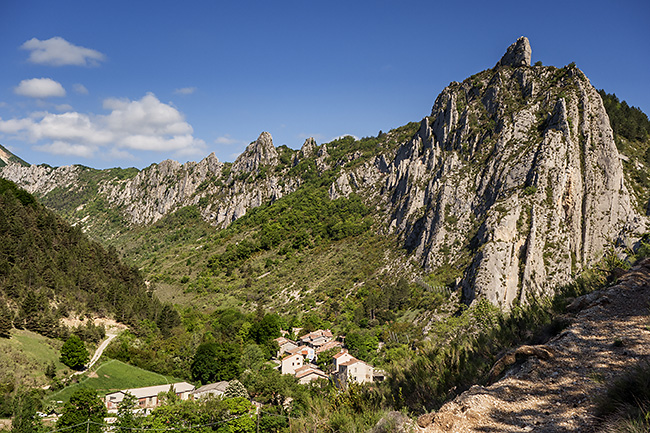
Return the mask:
<svg viewBox="0 0 650 433"><path fill-rule="evenodd" d="M0 144L32 164L234 161L431 112L519 36L650 113L650 2L0 0Z"/></svg>

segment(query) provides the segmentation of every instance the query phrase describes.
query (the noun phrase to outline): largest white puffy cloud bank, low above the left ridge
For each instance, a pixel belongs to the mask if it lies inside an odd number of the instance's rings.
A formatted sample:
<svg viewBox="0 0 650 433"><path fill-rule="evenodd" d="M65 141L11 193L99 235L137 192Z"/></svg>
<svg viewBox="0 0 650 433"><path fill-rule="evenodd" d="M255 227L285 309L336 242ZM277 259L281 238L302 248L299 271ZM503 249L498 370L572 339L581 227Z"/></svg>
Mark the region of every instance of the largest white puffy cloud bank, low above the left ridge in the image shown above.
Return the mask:
<svg viewBox="0 0 650 433"><path fill-rule="evenodd" d="M193 136L192 126L173 106L152 93L140 100L110 98L110 113L89 115L69 111L32 113L23 119L3 120L0 132L36 144L38 150L89 158L98 151L130 155L130 150L201 154L206 145Z"/></svg>

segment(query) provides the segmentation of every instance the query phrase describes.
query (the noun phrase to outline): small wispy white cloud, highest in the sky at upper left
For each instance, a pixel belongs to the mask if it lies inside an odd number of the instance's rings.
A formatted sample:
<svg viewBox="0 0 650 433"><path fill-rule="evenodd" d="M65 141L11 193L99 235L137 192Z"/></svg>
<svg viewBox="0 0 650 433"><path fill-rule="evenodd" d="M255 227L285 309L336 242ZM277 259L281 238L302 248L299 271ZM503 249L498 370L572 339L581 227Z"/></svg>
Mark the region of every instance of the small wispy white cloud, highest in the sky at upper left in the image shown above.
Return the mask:
<svg viewBox="0 0 650 433"><path fill-rule="evenodd" d="M97 66L106 59L99 51L73 45L59 36L43 41L32 38L20 48L30 51L30 62L50 66Z"/></svg>

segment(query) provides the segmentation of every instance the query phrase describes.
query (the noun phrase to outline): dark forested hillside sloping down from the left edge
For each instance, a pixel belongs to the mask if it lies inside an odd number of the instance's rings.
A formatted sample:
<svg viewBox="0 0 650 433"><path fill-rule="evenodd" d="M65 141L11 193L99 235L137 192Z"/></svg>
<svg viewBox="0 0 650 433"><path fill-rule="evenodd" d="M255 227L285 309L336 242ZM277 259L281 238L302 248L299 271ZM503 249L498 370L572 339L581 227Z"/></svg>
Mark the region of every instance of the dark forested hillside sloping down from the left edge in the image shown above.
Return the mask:
<svg viewBox="0 0 650 433"><path fill-rule="evenodd" d="M57 337L71 313L139 327L163 306L139 271L123 264L26 191L0 179L0 326ZM159 322L163 323L164 321Z"/></svg>

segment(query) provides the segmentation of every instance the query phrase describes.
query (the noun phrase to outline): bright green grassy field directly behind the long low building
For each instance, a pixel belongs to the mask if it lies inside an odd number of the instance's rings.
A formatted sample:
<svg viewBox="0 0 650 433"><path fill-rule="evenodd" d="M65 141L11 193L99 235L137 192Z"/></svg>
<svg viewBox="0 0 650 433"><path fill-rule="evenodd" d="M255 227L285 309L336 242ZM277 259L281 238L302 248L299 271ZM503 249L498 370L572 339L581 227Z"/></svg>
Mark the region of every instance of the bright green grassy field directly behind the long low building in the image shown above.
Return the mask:
<svg viewBox="0 0 650 433"><path fill-rule="evenodd" d="M114 359L102 363L97 369L93 370L84 374L78 383L51 394L48 399L51 401L66 402L80 388L94 389L97 391L97 394L103 396L120 389L164 385L166 383L182 381L182 379L166 377Z"/></svg>

